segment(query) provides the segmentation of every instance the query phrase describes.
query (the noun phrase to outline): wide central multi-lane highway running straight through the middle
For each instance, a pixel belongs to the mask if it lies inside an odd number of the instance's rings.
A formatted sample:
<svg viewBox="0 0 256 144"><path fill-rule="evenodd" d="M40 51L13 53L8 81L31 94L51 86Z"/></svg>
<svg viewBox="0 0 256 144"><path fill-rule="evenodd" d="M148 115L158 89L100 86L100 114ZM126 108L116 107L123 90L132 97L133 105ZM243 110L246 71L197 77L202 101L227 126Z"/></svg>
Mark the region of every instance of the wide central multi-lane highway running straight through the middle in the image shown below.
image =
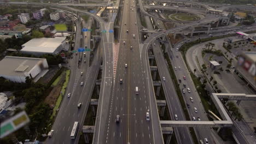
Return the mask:
<svg viewBox="0 0 256 144"><path fill-rule="evenodd" d="M119 44L116 44L117 47L120 45L118 61L114 60L114 63L117 62L117 71L114 73L113 94L110 95L108 105L108 121L104 124L107 126L103 140L95 143L164 143L156 105L151 103L148 89L144 86L146 75L139 52L138 28L135 25L137 17L136 11L130 9L131 5L134 5L132 1L126 0L124 3ZM120 83L120 79L123 79L123 83ZM139 87L138 95L135 94L136 86ZM155 113L150 116L149 122L146 121L148 110ZM120 116L119 123L115 122L117 115Z"/></svg>

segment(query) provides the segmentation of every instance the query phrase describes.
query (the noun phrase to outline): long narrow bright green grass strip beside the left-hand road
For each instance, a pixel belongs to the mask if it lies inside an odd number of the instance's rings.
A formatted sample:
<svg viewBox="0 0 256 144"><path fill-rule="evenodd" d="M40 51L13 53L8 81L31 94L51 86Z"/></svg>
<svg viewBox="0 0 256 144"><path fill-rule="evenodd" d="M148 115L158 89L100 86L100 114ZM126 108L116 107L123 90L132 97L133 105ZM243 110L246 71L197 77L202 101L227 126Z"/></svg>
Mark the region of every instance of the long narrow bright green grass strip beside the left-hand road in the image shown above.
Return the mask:
<svg viewBox="0 0 256 144"><path fill-rule="evenodd" d="M67 84L68 84L68 80L69 80L69 75L70 75L70 70L66 70L66 80L63 83L62 88L61 88L62 94L65 94L65 91L66 91L66 88L67 88ZM62 94L59 95L59 97L58 97L58 99L56 101L56 104L54 106L53 114L51 115L51 118L53 118L56 115L56 110L59 109L59 107L60 107L60 104L61 104L61 101L62 101L62 98L63 98Z"/></svg>

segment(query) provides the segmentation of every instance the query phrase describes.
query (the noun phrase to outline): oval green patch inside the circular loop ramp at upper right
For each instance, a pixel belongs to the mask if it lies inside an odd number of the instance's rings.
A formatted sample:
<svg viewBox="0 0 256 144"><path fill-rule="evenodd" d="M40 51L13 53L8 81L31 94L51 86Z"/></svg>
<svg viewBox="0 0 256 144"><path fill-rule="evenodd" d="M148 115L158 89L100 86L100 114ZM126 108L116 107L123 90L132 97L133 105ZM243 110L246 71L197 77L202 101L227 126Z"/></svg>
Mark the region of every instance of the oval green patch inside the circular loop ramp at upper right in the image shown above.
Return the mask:
<svg viewBox="0 0 256 144"><path fill-rule="evenodd" d="M176 21L196 21L200 19L198 16L184 13L171 14L168 17Z"/></svg>

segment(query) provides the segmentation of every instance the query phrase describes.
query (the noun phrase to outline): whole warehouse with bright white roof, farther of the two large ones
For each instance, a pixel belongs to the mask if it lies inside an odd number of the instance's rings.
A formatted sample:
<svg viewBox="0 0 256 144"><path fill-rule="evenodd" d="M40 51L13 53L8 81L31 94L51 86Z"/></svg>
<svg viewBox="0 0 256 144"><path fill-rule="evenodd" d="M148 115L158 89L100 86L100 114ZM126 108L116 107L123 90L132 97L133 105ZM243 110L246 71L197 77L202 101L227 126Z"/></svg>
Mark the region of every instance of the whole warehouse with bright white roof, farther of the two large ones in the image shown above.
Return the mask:
<svg viewBox="0 0 256 144"><path fill-rule="evenodd" d="M31 39L22 45L20 52L35 56L56 55L65 47L65 40L65 37Z"/></svg>

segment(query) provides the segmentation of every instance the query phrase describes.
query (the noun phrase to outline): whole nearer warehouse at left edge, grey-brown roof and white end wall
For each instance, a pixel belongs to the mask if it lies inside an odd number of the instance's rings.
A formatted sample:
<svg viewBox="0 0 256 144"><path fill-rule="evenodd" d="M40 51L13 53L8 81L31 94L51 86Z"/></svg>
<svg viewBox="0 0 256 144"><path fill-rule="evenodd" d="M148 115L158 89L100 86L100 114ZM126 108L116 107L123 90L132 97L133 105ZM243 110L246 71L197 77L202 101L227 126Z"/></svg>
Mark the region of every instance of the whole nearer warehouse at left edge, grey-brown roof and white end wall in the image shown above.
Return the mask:
<svg viewBox="0 0 256 144"><path fill-rule="evenodd" d="M0 61L0 67L0 77L13 82L26 82L27 76L36 82L48 71L45 58L6 56Z"/></svg>

